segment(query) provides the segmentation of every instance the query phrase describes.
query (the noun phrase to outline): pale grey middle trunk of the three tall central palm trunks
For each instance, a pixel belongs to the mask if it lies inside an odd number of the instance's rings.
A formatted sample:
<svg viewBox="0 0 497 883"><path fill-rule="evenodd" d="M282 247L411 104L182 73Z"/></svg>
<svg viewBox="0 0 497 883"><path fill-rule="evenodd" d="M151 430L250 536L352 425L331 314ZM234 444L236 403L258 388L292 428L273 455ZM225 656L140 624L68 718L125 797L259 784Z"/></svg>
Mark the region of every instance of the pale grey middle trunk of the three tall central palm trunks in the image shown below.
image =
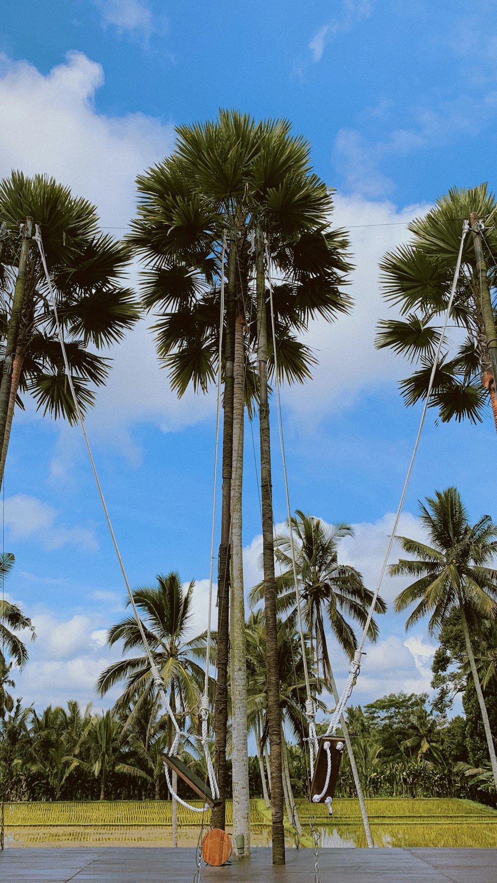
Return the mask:
<svg viewBox="0 0 497 883"><path fill-rule="evenodd" d="M244 469L244 316L235 326L233 396L233 472L231 479L230 678L233 783L233 835L243 834L250 855L250 796L247 748L247 662L245 647L242 486Z"/></svg>

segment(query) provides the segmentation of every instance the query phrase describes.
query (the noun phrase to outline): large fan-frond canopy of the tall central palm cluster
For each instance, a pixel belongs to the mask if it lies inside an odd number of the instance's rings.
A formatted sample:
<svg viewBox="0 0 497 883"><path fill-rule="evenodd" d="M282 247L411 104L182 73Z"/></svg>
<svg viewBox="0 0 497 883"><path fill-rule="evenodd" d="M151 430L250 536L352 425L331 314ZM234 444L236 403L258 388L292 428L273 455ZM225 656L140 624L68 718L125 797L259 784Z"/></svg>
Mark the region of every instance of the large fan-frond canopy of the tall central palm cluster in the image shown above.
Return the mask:
<svg viewBox="0 0 497 883"><path fill-rule="evenodd" d="M204 392L217 370L223 241L237 255L237 311L245 316L246 392L252 402L256 226L275 268L275 320L282 377L302 382L316 359L297 335L309 321L350 312L344 291L348 239L333 230L331 193L313 174L310 146L287 120L256 123L220 110L215 121L180 126L176 152L138 178L130 243L147 262L143 304L154 312L157 351L173 388ZM267 291L267 309L268 309ZM216 306L217 311L215 311ZM192 321L188 321L189 317ZM270 325L268 325L270 327ZM271 371L272 353L269 354Z"/></svg>

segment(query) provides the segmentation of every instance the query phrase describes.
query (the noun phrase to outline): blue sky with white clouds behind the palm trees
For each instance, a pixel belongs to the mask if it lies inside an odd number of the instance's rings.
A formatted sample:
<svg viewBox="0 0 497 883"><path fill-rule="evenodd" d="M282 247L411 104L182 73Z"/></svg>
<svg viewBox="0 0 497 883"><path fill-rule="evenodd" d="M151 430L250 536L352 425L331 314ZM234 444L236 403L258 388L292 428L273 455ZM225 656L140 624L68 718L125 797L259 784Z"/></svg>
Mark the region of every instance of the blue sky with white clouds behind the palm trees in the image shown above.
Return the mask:
<svg viewBox="0 0 497 883"><path fill-rule="evenodd" d="M0 24L0 177L49 172L94 200L120 235L134 178L174 147L174 127L236 107L289 117L311 141L317 173L336 189L335 223L350 229L354 313L316 322L307 342L320 365L305 389L283 392L293 508L356 525L343 558L373 586L418 424L396 381L406 366L373 349L385 315L377 261L405 223L448 187L493 185L497 118L494 4L475 0L287 0L247 6L198 0L77 0L9 4ZM124 232L124 230L123 230ZM138 284L133 271L132 282ZM132 585L160 571L199 581L193 628L206 624L215 402L177 402L141 323L113 351L107 389L88 430ZM253 427L257 449L258 427ZM426 424L403 530L417 500L456 484L471 517L492 514L483 425ZM286 516L277 435L275 520ZM476 452L478 451L478 455ZM476 455L476 456L475 456ZM258 578L260 514L246 431L245 582ZM77 428L17 414L5 475L5 548L16 555L7 592L38 638L17 675L27 702L97 700L113 658L105 629L122 615L120 581ZM495 514L493 512L493 514ZM391 600L399 584L386 582ZM341 681L343 660L335 652ZM423 690L433 641L407 638L388 613L355 698Z"/></svg>

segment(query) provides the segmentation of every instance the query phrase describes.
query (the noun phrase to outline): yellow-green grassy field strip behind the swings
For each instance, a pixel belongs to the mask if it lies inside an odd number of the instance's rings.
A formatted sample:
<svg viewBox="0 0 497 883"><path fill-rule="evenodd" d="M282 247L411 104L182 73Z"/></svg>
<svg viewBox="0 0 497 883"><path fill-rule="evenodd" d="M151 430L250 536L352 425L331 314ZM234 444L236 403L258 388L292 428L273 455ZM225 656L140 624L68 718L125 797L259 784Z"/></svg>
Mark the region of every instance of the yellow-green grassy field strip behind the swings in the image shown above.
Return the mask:
<svg viewBox="0 0 497 883"><path fill-rule="evenodd" d="M469 800L367 800L373 839L377 846L497 847L497 811ZM201 805L196 804L196 805ZM321 846L365 846L357 800L337 798L330 818L325 806L297 801L304 828L301 845L312 845L309 820L320 834ZM232 821L227 804L227 824ZM210 813L204 822L208 826ZM252 844L268 846L271 815L261 800L251 801ZM201 814L178 806L179 843L195 846ZM285 820L288 846L295 835ZM26 803L5 807L5 845L170 846L169 801L88 801L85 803Z"/></svg>

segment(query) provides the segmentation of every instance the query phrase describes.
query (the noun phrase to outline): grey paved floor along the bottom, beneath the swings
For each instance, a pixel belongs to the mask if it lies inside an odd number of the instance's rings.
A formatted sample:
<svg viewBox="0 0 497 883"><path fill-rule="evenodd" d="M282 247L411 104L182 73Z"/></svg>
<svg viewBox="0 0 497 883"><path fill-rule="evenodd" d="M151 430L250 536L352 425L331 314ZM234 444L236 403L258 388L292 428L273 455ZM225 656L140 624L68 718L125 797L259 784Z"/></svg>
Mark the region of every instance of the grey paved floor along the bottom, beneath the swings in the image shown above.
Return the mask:
<svg viewBox="0 0 497 883"><path fill-rule="evenodd" d="M4 849L1 883L192 883L194 849L110 847ZM320 849L321 883L497 883L497 849ZM270 849L222 868L202 864L207 883L314 883L311 849Z"/></svg>

